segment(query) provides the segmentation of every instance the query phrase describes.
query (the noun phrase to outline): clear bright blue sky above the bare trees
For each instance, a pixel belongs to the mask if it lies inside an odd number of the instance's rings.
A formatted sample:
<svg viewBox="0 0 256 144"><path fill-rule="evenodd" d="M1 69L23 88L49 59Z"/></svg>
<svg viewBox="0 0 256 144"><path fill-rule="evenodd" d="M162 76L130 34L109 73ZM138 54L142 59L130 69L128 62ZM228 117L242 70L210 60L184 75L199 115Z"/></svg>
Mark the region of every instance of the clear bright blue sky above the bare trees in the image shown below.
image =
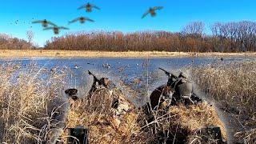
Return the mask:
<svg viewBox="0 0 256 144"><path fill-rule="evenodd" d="M94 3L102 10L86 13L77 8L86 2ZM142 14L150 6L164 6L155 18ZM67 22L86 16L94 23ZM34 31L34 42L43 46L46 40L55 35L51 30L42 30L33 19L47 19L58 26L67 26L58 36L76 31L120 30L131 32L138 30L179 31L188 22L202 21L206 26L214 22L255 21L255 0L1 0L0 33L26 39L26 31ZM14 22L18 20L18 24ZM11 24L12 23L12 24ZM32 26L32 27L30 27Z"/></svg>

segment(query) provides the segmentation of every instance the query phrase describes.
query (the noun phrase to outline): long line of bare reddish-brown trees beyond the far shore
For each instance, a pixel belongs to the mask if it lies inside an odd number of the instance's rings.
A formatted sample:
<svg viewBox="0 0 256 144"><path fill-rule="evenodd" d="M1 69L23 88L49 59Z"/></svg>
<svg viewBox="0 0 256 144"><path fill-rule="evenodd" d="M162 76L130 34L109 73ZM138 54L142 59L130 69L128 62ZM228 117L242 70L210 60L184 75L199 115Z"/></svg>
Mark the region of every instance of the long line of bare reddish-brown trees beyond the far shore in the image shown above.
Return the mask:
<svg viewBox="0 0 256 144"><path fill-rule="evenodd" d="M191 22L180 33L145 31L124 34L80 32L52 38L48 50L245 52L256 50L255 22L215 23L212 35L203 33L202 22Z"/></svg>

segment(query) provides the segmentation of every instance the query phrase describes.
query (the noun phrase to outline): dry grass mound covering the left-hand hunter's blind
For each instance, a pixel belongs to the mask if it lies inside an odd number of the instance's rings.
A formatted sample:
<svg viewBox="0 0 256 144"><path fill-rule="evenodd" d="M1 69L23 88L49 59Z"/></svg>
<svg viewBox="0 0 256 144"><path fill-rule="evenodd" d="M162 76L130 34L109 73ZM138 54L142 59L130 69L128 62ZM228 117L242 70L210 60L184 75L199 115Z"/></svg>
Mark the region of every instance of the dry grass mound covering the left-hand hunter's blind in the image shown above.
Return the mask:
<svg viewBox="0 0 256 144"><path fill-rule="evenodd" d="M118 109L111 107L118 98ZM138 133L138 114L134 106L122 95L121 91L101 88L91 96L73 103L66 127L85 126L90 130L90 143L144 143L145 137ZM62 141L68 135L63 131Z"/></svg>

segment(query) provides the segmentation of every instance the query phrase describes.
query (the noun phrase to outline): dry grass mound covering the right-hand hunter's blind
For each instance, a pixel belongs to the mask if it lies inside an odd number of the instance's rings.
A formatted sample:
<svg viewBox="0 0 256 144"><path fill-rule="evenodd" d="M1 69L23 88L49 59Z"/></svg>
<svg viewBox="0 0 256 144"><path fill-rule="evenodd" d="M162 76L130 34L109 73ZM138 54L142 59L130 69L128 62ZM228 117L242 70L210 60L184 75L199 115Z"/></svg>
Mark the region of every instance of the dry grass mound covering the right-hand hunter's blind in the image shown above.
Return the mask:
<svg viewBox="0 0 256 144"><path fill-rule="evenodd" d="M208 126L219 126L222 138L227 138L225 126L216 110L206 102L194 106L179 104L165 111L154 110L153 115L154 121L141 121L144 133L149 135L148 142L193 143L196 139L198 143L207 143L212 140L210 135L200 135L199 131ZM146 116L142 115L141 119L145 118Z"/></svg>

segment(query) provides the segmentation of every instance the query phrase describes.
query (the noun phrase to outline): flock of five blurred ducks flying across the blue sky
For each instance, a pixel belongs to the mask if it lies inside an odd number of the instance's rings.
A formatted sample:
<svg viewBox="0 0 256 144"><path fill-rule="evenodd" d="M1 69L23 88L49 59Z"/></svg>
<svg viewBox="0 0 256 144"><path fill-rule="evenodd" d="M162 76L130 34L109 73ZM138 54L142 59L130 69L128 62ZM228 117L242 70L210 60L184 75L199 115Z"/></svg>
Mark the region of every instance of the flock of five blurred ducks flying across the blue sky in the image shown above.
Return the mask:
<svg viewBox="0 0 256 144"><path fill-rule="evenodd" d="M86 3L85 5L78 7L78 10L82 10L82 9L85 9L87 13L92 12L93 9L100 10L100 8L98 6L95 6L94 4L91 4L89 2ZM148 14L150 14L151 17L155 17L157 14L156 10L162 10L162 9L163 9L163 6L150 7L150 9L147 10L146 13L142 15L142 18L145 18ZM71 24L74 22L80 22L83 24L85 22L94 22L94 20L92 20L90 18L86 18L86 17L79 17L79 18L75 18L74 20L68 22L68 24ZM41 23L43 30L54 30L54 34L59 34L60 30L69 30L69 28L67 28L67 27L57 26L53 22L50 22L46 19L34 21L32 23Z"/></svg>

